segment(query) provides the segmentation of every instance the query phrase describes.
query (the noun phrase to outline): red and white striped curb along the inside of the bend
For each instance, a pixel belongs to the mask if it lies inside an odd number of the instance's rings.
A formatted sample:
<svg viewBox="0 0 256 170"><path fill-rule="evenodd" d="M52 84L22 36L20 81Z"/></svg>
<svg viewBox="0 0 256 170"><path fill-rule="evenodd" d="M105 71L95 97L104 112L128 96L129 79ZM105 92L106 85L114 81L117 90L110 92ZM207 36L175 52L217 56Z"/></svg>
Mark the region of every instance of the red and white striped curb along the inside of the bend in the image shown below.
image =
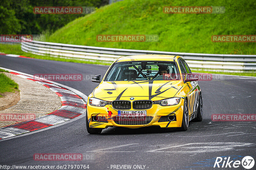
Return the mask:
<svg viewBox="0 0 256 170"><path fill-rule="evenodd" d="M85 113L85 102L87 101L87 96L78 90L46 79L39 79L39 77L35 77L30 74L25 74L2 67L0 68L10 71L10 73L18 75L22 78L35 81L45 87L48 87L60 97L62 103L60 109L55 110L48 115L0 128L0 139L13 137L22 133L60 124Z"/></svg>

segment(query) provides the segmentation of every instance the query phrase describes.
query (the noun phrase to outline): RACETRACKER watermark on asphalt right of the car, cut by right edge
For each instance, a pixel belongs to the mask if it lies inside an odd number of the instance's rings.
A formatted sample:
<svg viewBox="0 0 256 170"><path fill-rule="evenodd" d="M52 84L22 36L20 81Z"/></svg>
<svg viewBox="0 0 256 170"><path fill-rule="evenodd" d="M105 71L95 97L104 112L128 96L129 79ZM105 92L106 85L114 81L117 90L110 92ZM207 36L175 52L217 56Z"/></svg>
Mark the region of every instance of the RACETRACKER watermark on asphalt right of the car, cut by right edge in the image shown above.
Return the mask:
<svg viewBox="0 0 256 170"><path fill-rule="evenodd" d="M256 121L256 114L212 114L212 121Z"/></svg>

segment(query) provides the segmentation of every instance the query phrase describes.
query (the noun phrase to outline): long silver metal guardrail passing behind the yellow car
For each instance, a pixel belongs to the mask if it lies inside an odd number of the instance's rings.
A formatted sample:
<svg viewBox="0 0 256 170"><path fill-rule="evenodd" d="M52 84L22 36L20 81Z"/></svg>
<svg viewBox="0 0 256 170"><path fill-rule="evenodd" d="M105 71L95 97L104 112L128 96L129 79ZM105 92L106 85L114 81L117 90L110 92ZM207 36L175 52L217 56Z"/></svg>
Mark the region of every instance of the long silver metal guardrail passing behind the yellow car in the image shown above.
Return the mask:
<svg viewBox="0 0 256 170"><path fill-rule="evenodd" d="M130 50L31 41L27 40L26 38L22 39L24 42L21 42L21 50L38 55L48 54L52 56L114 61L120 56L145 55L153 53L161 55L179 55L187 61L189 67L191 68L256 70L256 55L175 53L164 51Z"/></svg>

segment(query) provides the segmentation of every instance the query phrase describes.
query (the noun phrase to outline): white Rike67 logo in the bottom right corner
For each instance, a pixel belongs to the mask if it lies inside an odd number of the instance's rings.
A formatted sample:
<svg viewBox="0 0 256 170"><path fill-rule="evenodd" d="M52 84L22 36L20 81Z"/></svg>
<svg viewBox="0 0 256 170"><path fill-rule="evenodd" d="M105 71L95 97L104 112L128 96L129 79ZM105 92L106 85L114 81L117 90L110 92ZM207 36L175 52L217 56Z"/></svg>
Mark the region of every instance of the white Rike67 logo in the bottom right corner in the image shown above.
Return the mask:
<svg viewBox="0 0 256 170"><path fill-rule="evenodd" d="M230 157L217 157L214 163L214 168L238 168L241 167L241 165L245 169L251 169L254 166L254 159L251 156L245 156L242 161L240 160L231 160Z"/></svg>

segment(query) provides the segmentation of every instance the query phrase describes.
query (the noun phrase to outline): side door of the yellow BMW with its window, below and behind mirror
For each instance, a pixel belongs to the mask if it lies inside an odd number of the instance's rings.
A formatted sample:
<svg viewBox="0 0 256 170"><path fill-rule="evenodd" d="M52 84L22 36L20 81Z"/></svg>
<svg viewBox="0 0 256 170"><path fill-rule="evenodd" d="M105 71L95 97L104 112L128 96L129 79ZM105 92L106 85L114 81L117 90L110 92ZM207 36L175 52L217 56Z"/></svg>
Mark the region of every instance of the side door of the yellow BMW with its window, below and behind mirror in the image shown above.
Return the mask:
<svg viewBox="0 0 256 170"><path fill-rule="evenodd" d="M191 74L191 70L189 69L185 60L180 59L179 63L180 63L181 72L184 72L184 75L182 75L182 76L184 77L184 79L186 79L187 74L188 73ZM195 114L196 108L198 106L198 97L199 96L198 96L198 90L196 90L197 81L189 81L189 82L186 82L185 84L189 88L189 92L188 92L188 114L189 114L189 120L191 120L191 118L194 118L194 117L191 117L191 115Z"/></svg>

